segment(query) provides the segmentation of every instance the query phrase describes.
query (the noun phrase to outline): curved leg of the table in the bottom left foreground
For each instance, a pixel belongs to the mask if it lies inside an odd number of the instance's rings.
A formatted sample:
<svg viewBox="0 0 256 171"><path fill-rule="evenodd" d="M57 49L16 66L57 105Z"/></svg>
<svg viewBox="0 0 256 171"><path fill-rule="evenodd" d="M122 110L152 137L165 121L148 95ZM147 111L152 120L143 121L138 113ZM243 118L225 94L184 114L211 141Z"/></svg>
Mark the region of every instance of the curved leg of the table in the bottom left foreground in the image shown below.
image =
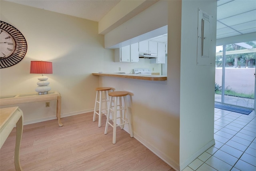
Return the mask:
<svg viewBox="0 0 256 171"><path fill-rule="evenodd" d="M18 122L16 123L16 144L14 152L14 165L16 171L22 171L22 168L20 166L20 143L23 131L23 112L21 110L19 110L19 112L21 113L21 116Z"/></svg>

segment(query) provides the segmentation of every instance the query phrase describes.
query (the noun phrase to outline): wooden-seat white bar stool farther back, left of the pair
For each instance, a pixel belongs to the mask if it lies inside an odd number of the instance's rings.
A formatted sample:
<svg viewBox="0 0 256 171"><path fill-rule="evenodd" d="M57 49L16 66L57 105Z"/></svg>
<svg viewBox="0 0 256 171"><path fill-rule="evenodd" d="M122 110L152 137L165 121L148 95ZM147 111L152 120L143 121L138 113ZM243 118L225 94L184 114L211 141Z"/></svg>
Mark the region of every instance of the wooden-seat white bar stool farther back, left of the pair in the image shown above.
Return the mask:
<svg viewBox="0 0 256 171"><path fill-rule="evenodd" d="M96 114L99 115L99 124L98 126L101 127L101 115L102 114L107 114L108 113L108 101L109 97L107 95L107 92L110 91L112 88L111 87L97 87L96 90L96 99L95 99L95 105L94 105L94 114L93 114L93 119L92 121L95 121ZM102 93L104 96L102 96ZM96 106L97 103L99 105L99 112L96 111ZM102 108L103 103L105 103L105 108Z"/></svg>

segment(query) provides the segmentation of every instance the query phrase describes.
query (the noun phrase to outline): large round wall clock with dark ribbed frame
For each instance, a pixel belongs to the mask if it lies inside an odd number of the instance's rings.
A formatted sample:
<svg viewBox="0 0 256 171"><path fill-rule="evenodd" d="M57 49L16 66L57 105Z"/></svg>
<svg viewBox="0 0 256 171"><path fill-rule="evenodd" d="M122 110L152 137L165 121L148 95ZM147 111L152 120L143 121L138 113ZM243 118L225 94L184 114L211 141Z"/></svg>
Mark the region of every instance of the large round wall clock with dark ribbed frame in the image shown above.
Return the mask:
<svg viewBox="0 0 256 171"><path fill-rule="evenodd" d="M27 52L27 42L14 26L0 21L0 68L20 62Z"/></svg>

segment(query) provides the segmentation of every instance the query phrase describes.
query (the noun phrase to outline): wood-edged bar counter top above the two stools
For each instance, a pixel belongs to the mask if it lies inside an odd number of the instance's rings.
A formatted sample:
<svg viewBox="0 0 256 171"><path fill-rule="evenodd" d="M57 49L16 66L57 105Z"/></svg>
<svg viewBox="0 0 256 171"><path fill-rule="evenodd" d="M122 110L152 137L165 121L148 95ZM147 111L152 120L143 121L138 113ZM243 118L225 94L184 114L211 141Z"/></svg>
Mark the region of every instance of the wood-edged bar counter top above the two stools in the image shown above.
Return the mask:
<svg viewBox="0 0 256 171"><path fill-rule="evenodd" d="M159 76L159 75L119 74L119 73L92 73L92 75L120 77L120 78L132 78L132 79L150 80L150 81L165 81L165 80L167 80L167 76Z"/></svg>

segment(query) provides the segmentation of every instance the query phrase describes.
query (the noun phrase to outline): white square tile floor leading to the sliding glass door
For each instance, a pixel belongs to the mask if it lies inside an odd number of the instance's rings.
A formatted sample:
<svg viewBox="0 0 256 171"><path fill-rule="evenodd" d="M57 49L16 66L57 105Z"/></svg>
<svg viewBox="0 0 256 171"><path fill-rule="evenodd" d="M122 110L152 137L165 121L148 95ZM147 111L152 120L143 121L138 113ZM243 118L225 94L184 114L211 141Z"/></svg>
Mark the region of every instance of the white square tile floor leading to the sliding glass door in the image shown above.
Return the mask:
<svg viewBox="0 0 256 171"><path fill-rule="evenodd" d="M183 171L256 171L256 114L215 108L215 145Z"/></svg>

